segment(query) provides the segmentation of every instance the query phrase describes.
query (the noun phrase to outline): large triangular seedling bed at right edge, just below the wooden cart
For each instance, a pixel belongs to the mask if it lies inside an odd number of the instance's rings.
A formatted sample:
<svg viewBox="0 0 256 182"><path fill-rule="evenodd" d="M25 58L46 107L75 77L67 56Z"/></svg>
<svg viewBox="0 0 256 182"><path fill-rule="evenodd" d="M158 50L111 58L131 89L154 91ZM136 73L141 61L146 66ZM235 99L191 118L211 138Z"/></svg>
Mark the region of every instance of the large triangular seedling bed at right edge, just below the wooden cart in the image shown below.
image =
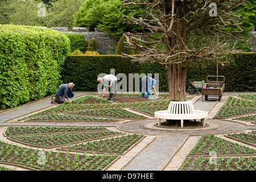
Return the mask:
<svg viewBox="0 0 256 182"><path fill-rule="evenodd" d="M243 115L256 112L256 101L243 100L229 96L219 109L215 118L235 117L235 115Z"/></svg>

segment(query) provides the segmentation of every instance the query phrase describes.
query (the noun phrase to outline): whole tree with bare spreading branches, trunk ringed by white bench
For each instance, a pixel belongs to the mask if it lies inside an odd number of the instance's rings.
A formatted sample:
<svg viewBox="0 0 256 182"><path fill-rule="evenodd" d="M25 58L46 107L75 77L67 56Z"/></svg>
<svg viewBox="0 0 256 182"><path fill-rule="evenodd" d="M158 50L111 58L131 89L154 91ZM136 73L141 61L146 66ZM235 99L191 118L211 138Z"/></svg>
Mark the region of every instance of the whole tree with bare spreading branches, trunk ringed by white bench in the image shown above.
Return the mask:
<svg viewBox="0 0 256 182"><path fill-rule="evenodd" d="M217 5L216 16L213 16L213 7L209 7L211 3ZM127 47L140 49L142 53L136 56L122 55L141 63L151 61L165 64L170 100L186 101L187 61L218 61L220 53L233 51L229 40L242 39L240 17L237 15L241 10L234 9L243 3L245 0L124 0L123 6L145 6L143 10L146 15L141 19L123 16L129 24L137 24L142 31L125 34ZM150 32L161 32L162 37L155 38ZM191 46L189 39L196 35L201 35L201 39L197 45ZM146 38L155 41L149 42ZM154 45L163 42L166 49L139 46L134 40Z"/></svg>

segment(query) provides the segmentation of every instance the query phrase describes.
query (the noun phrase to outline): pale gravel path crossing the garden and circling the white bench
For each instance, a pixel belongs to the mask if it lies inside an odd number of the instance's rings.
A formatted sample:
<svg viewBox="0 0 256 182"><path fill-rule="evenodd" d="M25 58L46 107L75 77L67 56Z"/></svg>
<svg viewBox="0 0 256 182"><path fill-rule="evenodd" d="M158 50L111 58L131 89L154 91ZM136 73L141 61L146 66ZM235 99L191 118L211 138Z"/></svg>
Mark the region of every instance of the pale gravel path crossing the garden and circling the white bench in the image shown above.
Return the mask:
<svg viewBox="0 0 256 182"><path fill-rule="evenodd" d="M95 94L89 92L75 92L75 96L82 96L84 94ZM233 93L234 94L234 93ZM194 107L197 110L209 111L209 118L206 119L208 127L201 129L162 129L155 127L154 123L157 119L148 119L143 121L133 121L125 123L109 123L106 126L116 126L118 129L123 131L129 131L132 133L142 133L148 135L155 135L155 139L148 144L139 154L135 155L133 160L122 167L119 170L129 171L159 171L166 167L169 163L171 156L175 154L175 151L181 147L188 136L202 135L202 134L222 134L238 132L246 129L256 129L254 125L245 125L243 123L221 121L212 119L218 111L218 108L225 102L226 96L223 96L221 102L217 100L202 101L201 96L195 95L192 99ZM9 125L26 125L15 120L15 118L31 113L31 111L37 111L46 107L53 106L50 104L51 97L46 97L40 101L34 102L33 104L27 104L0 112L0 126ZM14 118L14 119L13 119ZM13 119L13 120L12 120ZM29 123L27 125L38 125L38 123ZM70 125L70 123L42 123L42 125ZM94 123L72 123L71 125L98 125ZM104 124L101 124L104 125ZM191 139L192 140L192 139ZM175 159L175 158L174 158ZM169 165L170 167L170 165ZM168 169L168 166L166 167ZM170 167L171 169L171 167Z"/></svg>

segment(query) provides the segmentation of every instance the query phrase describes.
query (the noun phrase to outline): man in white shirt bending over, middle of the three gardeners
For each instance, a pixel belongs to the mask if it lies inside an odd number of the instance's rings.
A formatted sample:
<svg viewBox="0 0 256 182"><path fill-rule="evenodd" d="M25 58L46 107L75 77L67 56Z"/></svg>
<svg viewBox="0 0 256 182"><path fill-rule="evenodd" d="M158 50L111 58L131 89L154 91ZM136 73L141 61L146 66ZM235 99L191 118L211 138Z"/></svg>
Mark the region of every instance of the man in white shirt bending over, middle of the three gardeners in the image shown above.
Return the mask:
<svg viewBox="0 0 256 182"><path fill-rule="evenodd" d="M115 102L115 96L117 95L117 77L114 75L105 75L103 78L99 77L98 82L103 81L103 97L105 96L105 84L110 84L108 87L110 88L110 94L109 98L107 98L108 101Z"/></svg>

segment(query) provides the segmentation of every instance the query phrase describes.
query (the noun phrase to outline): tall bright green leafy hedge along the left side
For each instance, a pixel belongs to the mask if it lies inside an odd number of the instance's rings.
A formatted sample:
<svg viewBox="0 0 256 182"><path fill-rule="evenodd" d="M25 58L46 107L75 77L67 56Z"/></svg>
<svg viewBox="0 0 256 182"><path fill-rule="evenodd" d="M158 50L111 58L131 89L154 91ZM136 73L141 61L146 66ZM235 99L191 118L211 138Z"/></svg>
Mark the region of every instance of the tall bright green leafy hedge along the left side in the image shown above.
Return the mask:
<svg viewBox="0 0 256 182"><path fill-rule="evenodd" d="M0 24L0 108L56 92L70 40L50 28Z"/></svg>

